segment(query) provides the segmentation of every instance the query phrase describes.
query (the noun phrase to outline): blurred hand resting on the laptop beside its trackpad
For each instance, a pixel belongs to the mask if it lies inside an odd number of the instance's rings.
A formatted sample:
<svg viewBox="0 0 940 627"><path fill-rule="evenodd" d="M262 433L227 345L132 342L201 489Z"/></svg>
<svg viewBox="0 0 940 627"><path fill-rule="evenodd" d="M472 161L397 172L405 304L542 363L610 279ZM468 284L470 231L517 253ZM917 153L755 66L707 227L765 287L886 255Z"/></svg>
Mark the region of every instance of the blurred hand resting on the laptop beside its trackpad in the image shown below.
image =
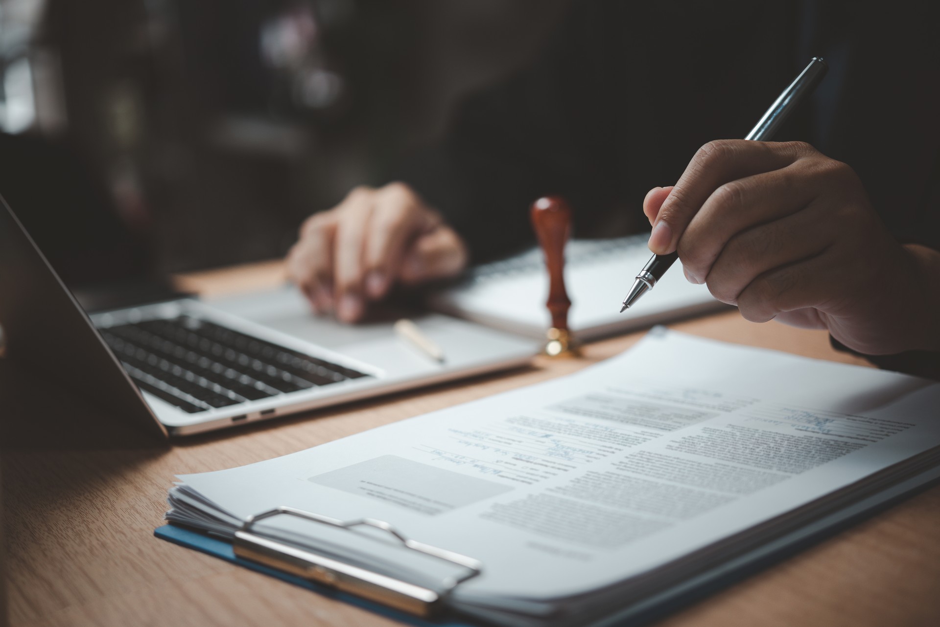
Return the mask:
<svg viewBox="0 0 940 627"><path fill-rule="evenodd" d="M396 282L414 285L459 274L461 237L407 185L358 187L304 222L287 257L288 275L321 314L355 322L368 300Z"/></svg>

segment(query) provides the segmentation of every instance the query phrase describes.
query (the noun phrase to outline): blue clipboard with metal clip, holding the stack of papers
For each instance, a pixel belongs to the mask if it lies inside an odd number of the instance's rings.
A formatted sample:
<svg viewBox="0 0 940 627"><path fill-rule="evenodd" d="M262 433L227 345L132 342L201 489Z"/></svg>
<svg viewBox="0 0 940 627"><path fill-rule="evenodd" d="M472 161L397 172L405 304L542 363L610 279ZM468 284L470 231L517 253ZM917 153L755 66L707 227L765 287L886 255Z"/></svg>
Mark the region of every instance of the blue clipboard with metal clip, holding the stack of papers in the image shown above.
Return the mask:
<svg viewBox="0 0 940 627"><path fill-rule="evenodd" d="M770 542L763 543L752 550L746 551L741 555L729 558L704 572L696 573L688 579L682 580L682 582L675 586L654 592L650 594L649 597L635 604L623 607L605 616L586 617L586 622L578 622L577 624L583 625L584 627L634 627L635 625L644 624L651 620L662 619L687 604L695 603L720 589L727 588L729 585L743 580L750 574L760 572L768 566L791 556L794 552L818 543L839 530L848 528L876 512L885 510L903 498L910 497L938 482L940 482L940 466L926 468L916 475L890 485L870 497L863 498L848 506L842 507L836 512L825 514L821 518L801 528L796 528ZM408 541L407 538L400 535L394 528L391 530L384 528L384 526L389 528L391 526L382 521L359 519L344 522L329 518L328 516L322 516L321 514L303 512L290 507L279 507L268 512L261 512L255 516L251 516L244 521L239 531L250 534L251 527L255 522L277 514L295 515L313 522L325 522L326 524L343 528L367 524L370 527L383 528L389 531L389 533L398 537L407 548L411 547L408 547L406 542L414 543L414 541ZM379 523L379 525L372 525L365 521ZM380 597L374 594L364 594L367 590L358 588L357 586L340 589L337 587L337 581L331 582L329 577L302 576L290 565L292 558L299 558L300 556L296 554L291 556L290 551L284 551L282 554L278 555L278 549L280 547L268 547L271 551L268 555L270 559L268 559L266 563L256 558L249 558L251 553L247 547L250 546L251 539L244 537L242 537L241 540L236 539L234 542L228 542L227 540L211 536L202 531L183 528L172 524L156 528L153 533L161 540L179 544L180 546L194 549L215 558L225 559L238 566L243 566L244 568L258 573L276 577L295 586L312 590L322 596L352 604L374 614L398 620L402 623L415 625L416 627L479 627L479 625L482 624L473 619L456 617L448 614L446 611L442 611L445 610L445 608L440 606L440 602L443 599L437 599L431 602L424 610L421 610L419 605L414 605L411 609L406 610L403 606L390 606L387 603L380 602ZM430 545L423 544L423 546L429 547ZM290 548L287 545L283 547ZM430 548L442 551L450 556L458 556L459 558L471 560L470 563L476 562L476 573L471 576L462 577L459 581L456 581L451 588L447 589L448 592L455 589L463 581L471 579L473 576L477 576L483 571L483 565L473 558L452 553L446 551L446 549L438 549L437 547ZM318 556L318 558L322 557ZM464 565L457 560L451 561ZM316 564L311 563L307 566L314 569ZM417 611L415 612L414 610ZM422 611L424 612L423 615L418 613Z"/></svg>

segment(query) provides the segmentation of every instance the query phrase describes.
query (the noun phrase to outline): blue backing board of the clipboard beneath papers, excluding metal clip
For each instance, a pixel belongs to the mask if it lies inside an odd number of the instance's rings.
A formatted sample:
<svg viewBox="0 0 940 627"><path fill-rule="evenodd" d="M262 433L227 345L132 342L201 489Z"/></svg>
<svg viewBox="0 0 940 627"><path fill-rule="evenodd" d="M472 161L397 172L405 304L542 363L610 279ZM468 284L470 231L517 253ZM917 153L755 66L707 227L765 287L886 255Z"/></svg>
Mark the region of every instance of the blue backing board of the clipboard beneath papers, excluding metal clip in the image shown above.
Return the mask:
<svg viewBox="0 0 940 627"><path fill-rule="evenodd" d="M585 627L627 627L664 618L685 605L695 603L720 589L727 588L748 575L757 573L783 558L791 556L795 551L818 543L839 530L850 527L876 512L883 511L892 504L910 497L937 482L940 482L940 466L924 470L916 476L898 482L871 497L856 501L837 512L824 515L808 525L777 537L771 542L761 544L758 548L742 555L730 558L703 573L697 573L682 581L682 583L652 594L629 607L600 619L594 617L585 623ZM373 614L397 620L403 624L415 625L416 627L479 627L480 624L466 619L448 618L446 616L440 619L420 619L382 604L308 581L303 577L283 573L274 568L238 558L235 556L231 543L194 529L164 525L156 528L153 534L161 540L179 544L215 558L225 559L252 571L276 577L330 599L361 607Z"/></svg>

